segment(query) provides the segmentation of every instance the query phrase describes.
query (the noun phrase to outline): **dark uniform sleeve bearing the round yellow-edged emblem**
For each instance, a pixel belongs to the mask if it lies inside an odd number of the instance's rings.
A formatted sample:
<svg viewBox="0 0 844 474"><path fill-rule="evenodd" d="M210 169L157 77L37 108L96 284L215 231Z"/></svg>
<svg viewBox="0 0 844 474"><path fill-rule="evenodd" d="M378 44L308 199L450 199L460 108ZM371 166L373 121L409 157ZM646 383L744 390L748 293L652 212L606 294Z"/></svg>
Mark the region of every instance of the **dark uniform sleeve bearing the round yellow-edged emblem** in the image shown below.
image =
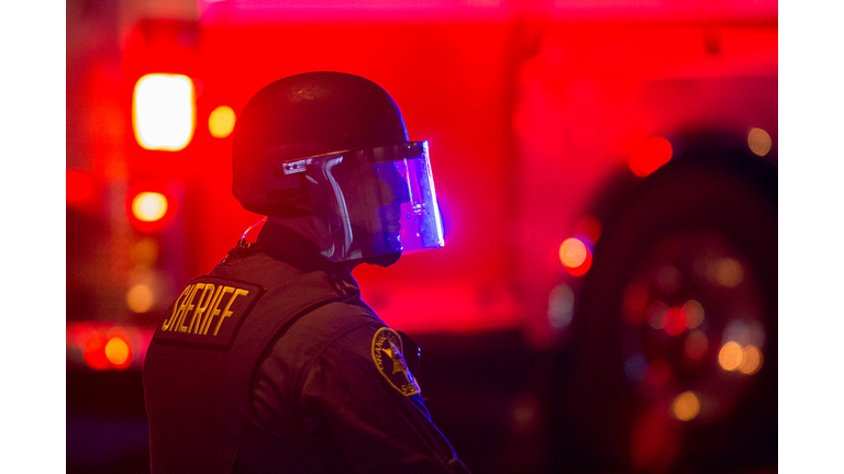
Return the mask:
<svg viewBox="0 0 844 474"><path fill-rule="evenodd" d="M401 371L392 372L400 358L395 348L387 349L392 359L379 369L373 349L379 329L367 324L329 346L307 372L302 406L331 426L356 472L468 473L431 421L421 395L407 387L402 393L401 384L390 381L388 375Z"/></svg>

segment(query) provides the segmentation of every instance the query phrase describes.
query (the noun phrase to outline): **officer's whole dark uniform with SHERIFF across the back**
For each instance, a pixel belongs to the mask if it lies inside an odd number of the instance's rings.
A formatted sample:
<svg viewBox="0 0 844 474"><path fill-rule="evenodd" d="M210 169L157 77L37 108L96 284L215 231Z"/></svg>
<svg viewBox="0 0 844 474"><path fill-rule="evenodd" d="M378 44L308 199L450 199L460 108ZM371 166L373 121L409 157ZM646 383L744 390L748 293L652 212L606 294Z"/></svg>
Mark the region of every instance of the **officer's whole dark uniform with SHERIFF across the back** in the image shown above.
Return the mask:
<svg viewBox="0 0 844 474"><path fill-rule="evenodd" d="M269 222L153 337L152 471L468 472L401 352L343 266Z"/></svg>

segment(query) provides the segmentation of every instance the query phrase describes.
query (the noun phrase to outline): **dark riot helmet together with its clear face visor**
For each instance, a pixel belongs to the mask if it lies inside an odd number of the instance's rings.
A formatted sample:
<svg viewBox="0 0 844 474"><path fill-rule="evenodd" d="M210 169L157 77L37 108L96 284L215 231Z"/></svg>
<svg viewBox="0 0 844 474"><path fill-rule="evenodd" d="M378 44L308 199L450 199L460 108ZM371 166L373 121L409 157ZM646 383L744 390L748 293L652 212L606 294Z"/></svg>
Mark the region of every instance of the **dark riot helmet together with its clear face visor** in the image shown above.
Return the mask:
<svg viewBox="0 0 844 474"><path fill-rule="evenodd" d="M324 257L366 259L444 245L426 142L409 142L392 98L342 72L275 81L234 129L232 192L248 211L311 216Z"/></svg>

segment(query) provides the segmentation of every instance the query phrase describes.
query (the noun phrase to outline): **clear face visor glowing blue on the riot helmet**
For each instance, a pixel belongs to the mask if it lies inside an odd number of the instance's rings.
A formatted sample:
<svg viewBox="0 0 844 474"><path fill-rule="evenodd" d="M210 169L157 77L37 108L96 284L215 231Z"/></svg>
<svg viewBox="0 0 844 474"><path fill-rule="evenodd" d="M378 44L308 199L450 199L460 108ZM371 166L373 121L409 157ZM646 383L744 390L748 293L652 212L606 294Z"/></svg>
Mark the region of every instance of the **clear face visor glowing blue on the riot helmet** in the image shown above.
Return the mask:
<svg viewBox="0 0 844 474"><path fill-rule="evenodd" d="M282 169L306 181L329 260L445 245L427 142L303 158Z"/></svg>

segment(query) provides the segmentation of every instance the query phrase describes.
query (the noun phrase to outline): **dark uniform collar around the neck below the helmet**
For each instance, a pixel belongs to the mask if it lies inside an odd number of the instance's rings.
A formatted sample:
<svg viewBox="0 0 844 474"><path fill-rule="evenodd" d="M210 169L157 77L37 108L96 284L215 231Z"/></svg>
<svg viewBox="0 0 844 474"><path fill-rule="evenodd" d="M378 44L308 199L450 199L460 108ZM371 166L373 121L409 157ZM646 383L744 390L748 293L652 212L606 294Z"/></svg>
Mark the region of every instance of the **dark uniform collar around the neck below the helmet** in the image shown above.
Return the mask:
<svg viewBox="0 0 844 474"><path fill-rule="evenodd" d="M315 244L277 222L267 221L255 244L260 251L302 272L324 271L357 287L352 273L342 263L325 259Z"/></svg>

